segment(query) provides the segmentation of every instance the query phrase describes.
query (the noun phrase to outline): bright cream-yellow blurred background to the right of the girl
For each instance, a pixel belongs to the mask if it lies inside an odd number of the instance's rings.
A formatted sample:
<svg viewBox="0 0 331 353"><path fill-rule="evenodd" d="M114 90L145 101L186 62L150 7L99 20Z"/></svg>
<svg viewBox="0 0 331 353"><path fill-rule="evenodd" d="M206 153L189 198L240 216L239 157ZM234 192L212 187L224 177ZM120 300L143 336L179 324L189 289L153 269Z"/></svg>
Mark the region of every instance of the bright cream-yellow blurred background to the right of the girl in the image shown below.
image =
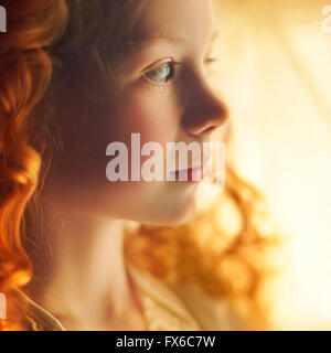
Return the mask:
<svg viewBox="0 0 331 353"><path fill-rule="evenodd" d="M215 1L217 85L232 111L231 153L266 194L286 236L277 259L281 275L271 288L279 330L331 329L327 6L331 0Z"/></svg>

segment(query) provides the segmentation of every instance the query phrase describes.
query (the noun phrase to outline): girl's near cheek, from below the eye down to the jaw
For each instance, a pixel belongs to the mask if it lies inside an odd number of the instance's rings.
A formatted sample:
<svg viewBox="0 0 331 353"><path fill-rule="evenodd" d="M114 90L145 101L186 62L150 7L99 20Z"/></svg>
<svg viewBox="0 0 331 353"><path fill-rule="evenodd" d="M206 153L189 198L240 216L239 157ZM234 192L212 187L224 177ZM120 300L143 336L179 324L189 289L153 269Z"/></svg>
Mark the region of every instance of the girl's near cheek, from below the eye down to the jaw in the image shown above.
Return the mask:
<svg viewBox="0 0 331 353"><path fill-rule="evenodd" d="M115 106L118 114L114 114ZM139 213L139 218L157 212L160 200L168 200L169 190L160 182L109 182L106 178L109 162L106 146L120 141L126 143L130 152L131 133L136 132L140 133L141 147L154 141L167 151L167 142L178 139L180 116L175 96L161 93L158 88L130 89L120 94L115 104L108 101L106 106L94 109L93 119L89 120L93 124L88 128L82 127L82 135L76 136L79 145L82 142L88 149L79 153L79 158L67 153L68 163L56 168L63 180L61 190L66 189L65 194L70 200L78 200L94 207L95 212L109 212L128 218L136 213ZM141 157L141 164L148 158ZM60 160L63 160L63 156ZM65 184L67 188L64 188ZM152 215L148 217L152 218Z"/></svg>

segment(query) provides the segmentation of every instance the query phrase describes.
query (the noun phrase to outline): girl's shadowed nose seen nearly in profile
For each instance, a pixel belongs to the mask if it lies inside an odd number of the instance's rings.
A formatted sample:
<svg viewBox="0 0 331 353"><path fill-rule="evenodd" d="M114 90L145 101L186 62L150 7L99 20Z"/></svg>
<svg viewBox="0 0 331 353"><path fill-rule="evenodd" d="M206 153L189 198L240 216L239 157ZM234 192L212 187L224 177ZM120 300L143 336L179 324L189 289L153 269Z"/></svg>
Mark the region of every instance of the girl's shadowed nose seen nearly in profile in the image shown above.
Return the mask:
<svg viewBox="0 0 331 353"><path fill-rule="evenodd" d="M188 107L182 117L182 126L192 137L210 135L228 119L228 108L216 96L210 84L197 77L189 88Z"/></svg>

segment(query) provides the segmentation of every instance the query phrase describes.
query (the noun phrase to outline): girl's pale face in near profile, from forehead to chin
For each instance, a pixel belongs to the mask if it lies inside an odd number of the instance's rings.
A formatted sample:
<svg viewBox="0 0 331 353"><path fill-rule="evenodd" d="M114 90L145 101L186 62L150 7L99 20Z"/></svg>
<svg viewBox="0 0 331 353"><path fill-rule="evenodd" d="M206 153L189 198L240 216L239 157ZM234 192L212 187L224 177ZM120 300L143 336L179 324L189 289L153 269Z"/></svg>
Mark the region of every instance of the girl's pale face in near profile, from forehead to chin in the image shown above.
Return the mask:
<svg viewBox="0 0 331 353"><path fill-rule="evenodd" d="M106 148L114 141L128 147L130 176L131 133L140 133L141 146L160 143L166 165L167 142L196 141L202 147L224 124L226 108L205 77L214 35L211 1L147 0L134 34L115 73L114 98L92 107L78 97L87 119L72 116L70 98L63 101L56 121L65 152L55 152L44 192L63 207L147 224L181 224L194 214L199 183L110 182L106 167L114 157L106 156ZM149 158L141 157L140 164Z"/></svg>

